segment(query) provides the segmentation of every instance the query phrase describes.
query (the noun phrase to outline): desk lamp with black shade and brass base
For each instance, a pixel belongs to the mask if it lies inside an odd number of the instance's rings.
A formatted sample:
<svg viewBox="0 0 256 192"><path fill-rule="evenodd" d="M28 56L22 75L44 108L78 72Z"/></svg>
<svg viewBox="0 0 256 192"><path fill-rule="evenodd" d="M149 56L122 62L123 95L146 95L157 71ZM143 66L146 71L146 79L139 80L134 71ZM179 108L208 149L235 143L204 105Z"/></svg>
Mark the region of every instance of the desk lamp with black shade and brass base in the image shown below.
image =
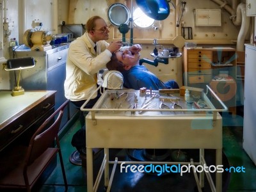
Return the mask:
<svg viewBox="0 0 256 192"><path fill-rule="evenodd" d="M16 82L16 86L12 90L12 96L24 95L24 88L20 86L20 73L22 69L35 67L34 58L18 58L18 59L10 59L6 61L4 64L4 70L19 70L18 81Z"/></svg>

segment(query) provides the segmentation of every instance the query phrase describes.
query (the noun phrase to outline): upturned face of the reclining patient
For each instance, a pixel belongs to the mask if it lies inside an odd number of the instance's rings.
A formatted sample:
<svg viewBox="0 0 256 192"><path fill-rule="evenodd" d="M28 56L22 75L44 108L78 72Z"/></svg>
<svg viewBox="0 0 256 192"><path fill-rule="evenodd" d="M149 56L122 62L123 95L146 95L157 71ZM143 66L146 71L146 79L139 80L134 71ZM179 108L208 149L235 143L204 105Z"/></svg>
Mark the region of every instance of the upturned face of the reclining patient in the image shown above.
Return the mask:
<svg viewBox="0 0 256 192"><path fill-rule="evenodd" d="M124 66L134 66L138 64L138 61L140 60L140 52L132 54L131 51L128 50L117 51L116 58L118 61L121 61Z"/></svg>

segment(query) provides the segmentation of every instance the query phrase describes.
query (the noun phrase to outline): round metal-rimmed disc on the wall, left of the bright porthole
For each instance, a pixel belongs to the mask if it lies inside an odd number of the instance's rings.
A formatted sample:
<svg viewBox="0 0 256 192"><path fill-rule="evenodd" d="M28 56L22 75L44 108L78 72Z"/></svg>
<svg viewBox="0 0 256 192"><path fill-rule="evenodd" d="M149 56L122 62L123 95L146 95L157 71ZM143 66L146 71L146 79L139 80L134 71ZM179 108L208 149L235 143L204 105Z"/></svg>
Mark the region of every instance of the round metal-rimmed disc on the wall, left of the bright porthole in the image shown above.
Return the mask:
<svg viewBox="0 0 256 192"><path fill-rule="evenodd" d="M130 17L131 13L124 4L114 3L108 8L108 20L116 27L120 24L129 24Z"/></svg>

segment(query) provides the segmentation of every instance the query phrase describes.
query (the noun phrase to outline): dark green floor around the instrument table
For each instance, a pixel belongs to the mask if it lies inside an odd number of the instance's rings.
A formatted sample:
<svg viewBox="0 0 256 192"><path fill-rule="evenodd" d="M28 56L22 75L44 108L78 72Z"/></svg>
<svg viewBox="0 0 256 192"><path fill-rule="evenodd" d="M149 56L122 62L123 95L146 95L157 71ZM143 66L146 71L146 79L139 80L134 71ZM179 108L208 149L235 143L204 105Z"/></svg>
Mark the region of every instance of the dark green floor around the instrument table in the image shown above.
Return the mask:
<svg viewBox="0 0 256 192"><path fill-rule="evenodd" d="M236 125L236 126L235 126ZM237 115L237 118L223 116L223 152L228 158L230 166L243 166L245 173L231 173L228 192L233 191L256 191L256 166L243 150L243 118ZM87 191L86 174L82 166L71 164L68 160L70 154L75 150L70 145L71 138L79 129L79 122L76 121L71 129L61 138L61 150L63 153L65 170L68 180L68 191ZM115 184L115 183L114 183ZM60 166L57 166L44 182L44 185L36 191L64 191L63 179ZM149 189L138 189L138 191L150 191ZM159 191L166 191L159 189ZM169 191L169 190L168 190ZM180 191L184 191L180 189ZM193 189L191 189L193 191ZM115 191L112 191L115 192Z"/></svg>

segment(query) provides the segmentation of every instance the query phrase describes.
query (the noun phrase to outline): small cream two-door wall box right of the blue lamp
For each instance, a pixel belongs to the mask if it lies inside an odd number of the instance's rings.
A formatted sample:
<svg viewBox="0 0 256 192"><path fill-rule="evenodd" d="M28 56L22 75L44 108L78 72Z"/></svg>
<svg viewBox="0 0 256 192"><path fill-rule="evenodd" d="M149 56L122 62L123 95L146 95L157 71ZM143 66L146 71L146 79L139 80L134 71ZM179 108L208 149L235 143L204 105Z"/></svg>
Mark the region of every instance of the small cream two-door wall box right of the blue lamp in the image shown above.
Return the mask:
<svg viewBox="0 0 256 192"><path fill-rule="evenodd" d="M196 9L195 10L196 26L221 26L220 9Z"/></svg>

